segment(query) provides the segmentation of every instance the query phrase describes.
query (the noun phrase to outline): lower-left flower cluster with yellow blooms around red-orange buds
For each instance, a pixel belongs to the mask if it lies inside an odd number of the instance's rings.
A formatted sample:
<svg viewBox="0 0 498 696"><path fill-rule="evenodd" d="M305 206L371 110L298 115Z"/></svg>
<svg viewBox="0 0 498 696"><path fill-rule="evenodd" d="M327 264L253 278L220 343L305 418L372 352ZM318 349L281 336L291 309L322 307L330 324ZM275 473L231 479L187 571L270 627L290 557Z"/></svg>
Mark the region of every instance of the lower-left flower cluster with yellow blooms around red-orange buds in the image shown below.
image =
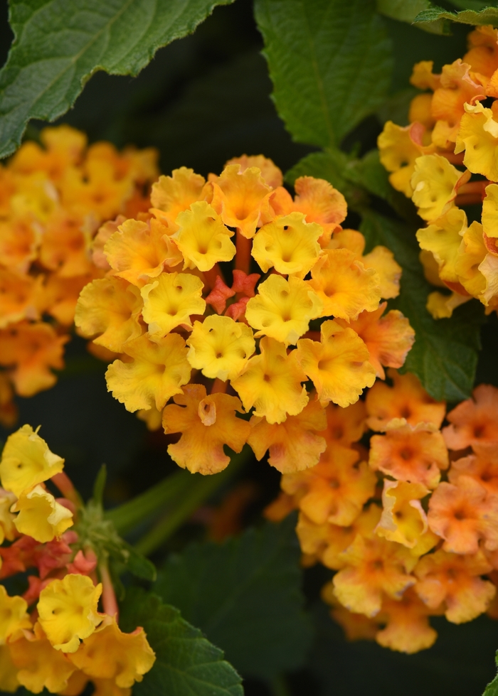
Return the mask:
<svg viewBox="0 0 498 696"><path fill-rule="evenodd" d="M97 696L129 696L152 668L154 652L142 628L123 633L117 625L107 563L75 531L78 494L63 466L29 425L6 441L0 537L8 544L0 547L0 578L32 574L22 596L0 585L0 690L23 685L36 694L46 687L77 696L91 681ZM55 498L49 480L67 497Z"/></svg>

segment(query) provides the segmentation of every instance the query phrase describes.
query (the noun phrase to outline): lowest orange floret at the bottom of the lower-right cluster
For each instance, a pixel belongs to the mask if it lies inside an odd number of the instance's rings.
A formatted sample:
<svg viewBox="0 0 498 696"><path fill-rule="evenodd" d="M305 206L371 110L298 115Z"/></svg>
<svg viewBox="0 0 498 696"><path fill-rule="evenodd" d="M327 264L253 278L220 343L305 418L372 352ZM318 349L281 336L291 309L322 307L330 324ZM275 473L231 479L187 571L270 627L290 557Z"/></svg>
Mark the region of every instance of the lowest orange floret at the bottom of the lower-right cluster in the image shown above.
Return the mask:
<svg viewBox="0 0 498 696"><path fill-rule="evenodd" d="M399 600L384 599L378 619L386 626L375 639L383 648L408 655L427 650L438 638L429 623L429 616L434 613L409 587Z"/></svg>

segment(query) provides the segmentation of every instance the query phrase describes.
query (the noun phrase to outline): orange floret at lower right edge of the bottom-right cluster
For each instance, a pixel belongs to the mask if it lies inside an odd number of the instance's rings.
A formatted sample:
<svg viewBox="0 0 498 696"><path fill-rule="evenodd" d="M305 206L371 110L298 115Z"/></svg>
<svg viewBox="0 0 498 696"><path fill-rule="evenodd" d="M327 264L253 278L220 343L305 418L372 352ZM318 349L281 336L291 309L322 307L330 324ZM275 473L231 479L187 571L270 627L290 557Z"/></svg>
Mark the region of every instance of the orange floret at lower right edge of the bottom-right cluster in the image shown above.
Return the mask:
<svg viewBox="0 0 498 696"><path fill-rule="evenodd" d="M415 592L429 609L444 603L451 623L472 621L486 611L496 592L491 582L479 577L490 570L482 552L460 556L438 550L423 556L415 567Z"/></svg>

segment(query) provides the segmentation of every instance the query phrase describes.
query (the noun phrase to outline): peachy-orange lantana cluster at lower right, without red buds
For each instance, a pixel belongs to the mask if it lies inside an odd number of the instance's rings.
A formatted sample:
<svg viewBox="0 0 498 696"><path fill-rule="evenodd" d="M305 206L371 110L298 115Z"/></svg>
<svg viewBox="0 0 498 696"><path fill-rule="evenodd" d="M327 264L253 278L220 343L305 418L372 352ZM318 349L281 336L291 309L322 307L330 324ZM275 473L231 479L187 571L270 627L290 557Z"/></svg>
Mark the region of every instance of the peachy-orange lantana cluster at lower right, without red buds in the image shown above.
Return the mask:
<svg viewBox="0 0 498 696"><path fill-rule="evenodd" d="M319 464L282 476L266 515L299 510L303 562L336 571L322 596L346 636L416 653L437 638L430 616L498 618L498 389L477 387L441 430L445 403L390 374L329 407Z"/></svg>

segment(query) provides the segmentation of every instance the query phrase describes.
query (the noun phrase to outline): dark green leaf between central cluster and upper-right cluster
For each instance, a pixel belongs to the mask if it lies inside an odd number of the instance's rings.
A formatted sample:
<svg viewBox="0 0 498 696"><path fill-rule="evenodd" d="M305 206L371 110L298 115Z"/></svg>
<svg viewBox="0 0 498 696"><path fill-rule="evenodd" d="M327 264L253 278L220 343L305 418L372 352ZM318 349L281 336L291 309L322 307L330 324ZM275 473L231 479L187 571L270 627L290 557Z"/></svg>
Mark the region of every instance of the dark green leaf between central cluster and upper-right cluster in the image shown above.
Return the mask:
<svg viewBox="0 0 498 696"><path fill-rule="evenodd" d="M365 210L362 215L360 230L368 247L388 247L403 267L401 294L391 306L408 316L415 329L415 344L401 371L415 373L435 399L466 399L474 385L480 326L484 321L482 307L470 301L450 319L433 319L425 309L433 287L425 280L418 260L415 229L372 210Z"/></svg>

